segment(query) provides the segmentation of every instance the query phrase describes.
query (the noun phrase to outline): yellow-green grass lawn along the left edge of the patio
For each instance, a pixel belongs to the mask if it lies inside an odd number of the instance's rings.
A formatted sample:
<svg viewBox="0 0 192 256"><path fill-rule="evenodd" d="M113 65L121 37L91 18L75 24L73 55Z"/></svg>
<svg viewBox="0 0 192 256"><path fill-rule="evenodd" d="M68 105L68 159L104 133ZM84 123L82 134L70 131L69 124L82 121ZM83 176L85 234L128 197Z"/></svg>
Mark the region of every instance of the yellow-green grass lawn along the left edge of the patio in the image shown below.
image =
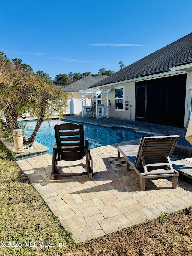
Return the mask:
<svg viewBox="0 0 192 256"><path fill-rule="evenodd" d="M0 255L59 255L74 243L1 141L0 242Z"/></svg>

